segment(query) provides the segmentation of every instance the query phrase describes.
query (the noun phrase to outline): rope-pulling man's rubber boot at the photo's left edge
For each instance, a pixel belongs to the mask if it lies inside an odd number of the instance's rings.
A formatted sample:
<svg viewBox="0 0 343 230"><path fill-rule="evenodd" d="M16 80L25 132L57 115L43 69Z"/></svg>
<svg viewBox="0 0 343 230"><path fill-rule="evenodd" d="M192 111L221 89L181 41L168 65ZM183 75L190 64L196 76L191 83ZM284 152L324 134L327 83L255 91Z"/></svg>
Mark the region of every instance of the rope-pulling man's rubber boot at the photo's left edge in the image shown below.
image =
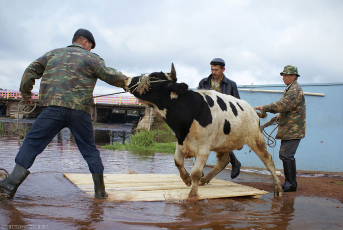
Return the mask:
<svg viewBox="0 0 343 230"><path fill-rule="evenodd" d="M19 185L22 184L29 174L30 171L19 164L16 164L12 173L7 178L0 181L0 190L2 190L2 193L13 197L17 192Z"/></svg>

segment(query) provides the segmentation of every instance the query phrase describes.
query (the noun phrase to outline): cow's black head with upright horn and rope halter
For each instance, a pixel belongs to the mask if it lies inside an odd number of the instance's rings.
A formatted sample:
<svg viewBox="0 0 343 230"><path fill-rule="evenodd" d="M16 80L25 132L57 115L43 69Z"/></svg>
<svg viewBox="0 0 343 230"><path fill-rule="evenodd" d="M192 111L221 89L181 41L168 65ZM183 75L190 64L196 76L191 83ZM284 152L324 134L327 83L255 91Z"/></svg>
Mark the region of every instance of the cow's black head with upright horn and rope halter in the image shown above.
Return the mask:
<svg viewBox="0 0 343 230"><path fill-rule="evenodd" d="M172 63L170 73L155 72L148 76L128 77L125 89L142 103L159 109L172 99L177 99L188 90L186 83L176 83L176 71Z"/></svg>

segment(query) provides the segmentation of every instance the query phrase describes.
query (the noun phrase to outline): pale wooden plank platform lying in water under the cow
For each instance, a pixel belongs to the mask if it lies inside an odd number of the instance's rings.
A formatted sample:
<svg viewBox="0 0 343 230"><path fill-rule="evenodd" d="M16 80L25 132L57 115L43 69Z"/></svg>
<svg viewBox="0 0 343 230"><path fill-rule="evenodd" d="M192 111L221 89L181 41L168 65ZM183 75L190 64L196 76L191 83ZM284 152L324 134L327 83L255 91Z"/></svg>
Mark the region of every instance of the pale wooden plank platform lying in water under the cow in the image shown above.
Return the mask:
<svg viewBox="0 0 343 230"><path fill-rule="evenodd" d="M91 174L63 175L82 191L94 195ZM185 200L190 192L190 187L176 174L104 174L104 182L108 201ZM214 178L209 184L199 186L198 194L199 200L203 200L240 196L259 198L268 192Z"/></svg>

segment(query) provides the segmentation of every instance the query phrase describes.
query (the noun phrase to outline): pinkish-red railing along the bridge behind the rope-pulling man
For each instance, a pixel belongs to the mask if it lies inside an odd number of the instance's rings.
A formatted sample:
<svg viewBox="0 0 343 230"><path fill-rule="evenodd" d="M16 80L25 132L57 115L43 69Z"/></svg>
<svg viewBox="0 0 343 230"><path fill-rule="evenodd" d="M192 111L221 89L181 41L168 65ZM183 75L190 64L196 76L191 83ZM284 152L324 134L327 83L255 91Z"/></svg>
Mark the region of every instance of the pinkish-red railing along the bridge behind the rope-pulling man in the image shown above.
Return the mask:
<svg viewBox="0 0 343 230"><path fill-rule="evenodd" d="M97 95L94 95L96 97ZM19 91L13 90L0 90L0 98L18 98L21 99L22 95ZM38 99L38 93L32 93L33 99ZM141 105L142 103L137 100L137 98L133 96L105 96L105 97L98 97L94 98L94 103L107 103L107 104L138 104Z"/></svg>

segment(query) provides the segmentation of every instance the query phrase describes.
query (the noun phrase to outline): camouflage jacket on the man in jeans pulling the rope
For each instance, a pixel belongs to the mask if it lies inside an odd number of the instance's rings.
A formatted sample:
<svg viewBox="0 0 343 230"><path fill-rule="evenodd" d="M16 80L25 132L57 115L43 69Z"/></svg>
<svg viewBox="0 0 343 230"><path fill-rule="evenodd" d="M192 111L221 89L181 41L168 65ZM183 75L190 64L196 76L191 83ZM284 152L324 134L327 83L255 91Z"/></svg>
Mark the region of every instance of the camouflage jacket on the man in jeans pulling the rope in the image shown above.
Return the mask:
<svg viewBox="0 0 343 230"><path fill-rule="evenodd" d="M24 98L31 96L39 78L40 106L57 105L90 113L97 79L123 88L126 76L106 67L101 57L74 43L45 53L26 68L19 89Z"/></svg>

